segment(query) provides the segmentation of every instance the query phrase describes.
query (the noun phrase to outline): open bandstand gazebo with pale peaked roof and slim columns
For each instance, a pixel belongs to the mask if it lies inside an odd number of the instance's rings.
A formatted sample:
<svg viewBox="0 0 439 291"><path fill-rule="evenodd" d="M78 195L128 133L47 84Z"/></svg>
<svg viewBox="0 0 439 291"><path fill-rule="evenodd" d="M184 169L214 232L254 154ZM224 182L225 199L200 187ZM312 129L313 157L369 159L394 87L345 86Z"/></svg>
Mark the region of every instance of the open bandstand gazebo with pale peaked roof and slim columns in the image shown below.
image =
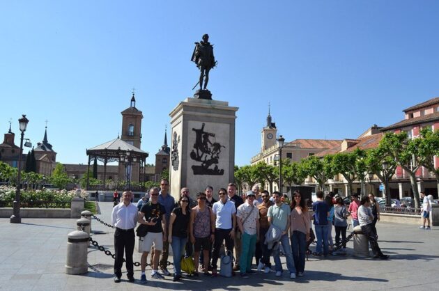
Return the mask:
<svg viewBox="0 0 439 291"><path fill-rule="evenodd" d="M104 163L104 190L106 189L105 180L107 179L107 163L118 162L119 168L121 165L125 167L125 188L131 189L132 169L139 165L139 182L144 182L145 164L148 152L130 145L122 139L113 139L102 143L99 146L86 150L88 155L88 173L90 173L90 163L94 159L98 159ZM120 170L119 170L120 171ZM134 171L135 173L135 171ZM143 183L142 183L143 184ZM87 190L89 189L89 177L87 175Z"/></svg>

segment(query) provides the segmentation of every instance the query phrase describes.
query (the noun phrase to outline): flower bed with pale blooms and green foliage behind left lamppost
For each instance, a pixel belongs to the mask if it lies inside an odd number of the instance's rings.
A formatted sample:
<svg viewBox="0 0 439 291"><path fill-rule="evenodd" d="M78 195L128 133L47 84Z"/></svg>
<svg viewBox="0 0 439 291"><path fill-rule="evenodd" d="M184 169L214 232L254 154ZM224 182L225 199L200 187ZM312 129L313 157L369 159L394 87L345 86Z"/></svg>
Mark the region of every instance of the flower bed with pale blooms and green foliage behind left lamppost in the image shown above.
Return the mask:
<svg viewBox="0 0 439 291"><path fill-rule="evenodd" d="M15 191L15 187L0 186L0 207L12 207ZM65 208L70 207L70 202L75 196L77 196L76 190L23 189L20 193L20 205L33 208ZM88 199L88 194L84 190L80 191L79 196L84 200Z"/></svg>

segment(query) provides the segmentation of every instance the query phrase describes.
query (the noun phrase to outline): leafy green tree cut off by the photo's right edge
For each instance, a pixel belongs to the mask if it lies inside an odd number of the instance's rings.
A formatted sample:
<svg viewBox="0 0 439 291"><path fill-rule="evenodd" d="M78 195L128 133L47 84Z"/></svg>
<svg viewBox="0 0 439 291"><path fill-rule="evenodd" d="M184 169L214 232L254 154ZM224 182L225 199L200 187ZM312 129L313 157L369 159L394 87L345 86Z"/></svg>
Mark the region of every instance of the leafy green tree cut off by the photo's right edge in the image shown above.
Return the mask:
<svg viewBox="0 0 439 291"><path fill-rule="evenodd" d="M428 127L421 130L421 138L414 140L417 148L419 163L436 177L439 193L439 165L434 166L434 157L439 155L439 130L434 132Z"/></svg>

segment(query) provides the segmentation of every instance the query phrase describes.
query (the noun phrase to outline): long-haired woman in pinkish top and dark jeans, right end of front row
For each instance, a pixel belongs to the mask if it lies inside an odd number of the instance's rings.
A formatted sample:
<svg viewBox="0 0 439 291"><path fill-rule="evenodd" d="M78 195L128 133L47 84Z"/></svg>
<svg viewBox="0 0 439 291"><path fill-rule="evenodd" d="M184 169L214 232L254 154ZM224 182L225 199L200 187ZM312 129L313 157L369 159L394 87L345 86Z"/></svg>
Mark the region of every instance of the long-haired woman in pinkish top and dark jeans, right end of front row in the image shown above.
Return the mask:
<svg viewBox="0 0 439 291"><path fill-rule="evenodd" d="M303 272L305 272L305 252L307 251L307 240L309 239L311 220L309 219L308 207L305 200L302 199L300 191L298 190L293 193L291 208L291 249L293 251L296 275L302 277Z"/></svg>

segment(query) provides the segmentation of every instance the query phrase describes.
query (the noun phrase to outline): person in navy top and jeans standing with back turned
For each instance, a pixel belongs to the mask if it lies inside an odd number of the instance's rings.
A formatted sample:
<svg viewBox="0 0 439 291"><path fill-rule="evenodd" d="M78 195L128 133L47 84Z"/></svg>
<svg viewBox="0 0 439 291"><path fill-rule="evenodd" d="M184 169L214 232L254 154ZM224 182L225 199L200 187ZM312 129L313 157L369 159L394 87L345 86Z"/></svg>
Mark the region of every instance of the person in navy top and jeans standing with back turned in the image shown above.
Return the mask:
<svg viewBox="0 0 439 291"><path fill-rule="evenodd" d="M328 256L328 216L329 206L323 201L323 192L317 191L317 200L312 203L312 210L314 211L314 229L316 231L317 246L316 252L313 255L320 257L322 255L322 242L323 242L323 255Z"/></svg>

